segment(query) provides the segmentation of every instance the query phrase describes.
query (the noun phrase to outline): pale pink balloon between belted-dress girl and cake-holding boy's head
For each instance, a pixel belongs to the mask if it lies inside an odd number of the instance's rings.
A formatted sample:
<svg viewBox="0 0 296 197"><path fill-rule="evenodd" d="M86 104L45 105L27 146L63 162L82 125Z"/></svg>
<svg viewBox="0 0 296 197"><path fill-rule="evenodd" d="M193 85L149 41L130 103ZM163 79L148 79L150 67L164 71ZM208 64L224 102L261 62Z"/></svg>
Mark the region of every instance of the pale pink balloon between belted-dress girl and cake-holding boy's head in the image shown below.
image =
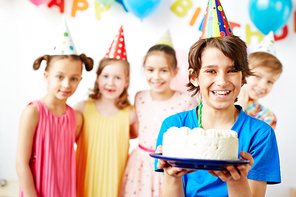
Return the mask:
<svg viewBox="0 0 296 197"><path fill-rule="evenodd" d="M176 49L175 51L179 71L172 79L170 87L175 91L187 92L188 87L186 85L189 82L187 52L181 49Z"/></svg>

